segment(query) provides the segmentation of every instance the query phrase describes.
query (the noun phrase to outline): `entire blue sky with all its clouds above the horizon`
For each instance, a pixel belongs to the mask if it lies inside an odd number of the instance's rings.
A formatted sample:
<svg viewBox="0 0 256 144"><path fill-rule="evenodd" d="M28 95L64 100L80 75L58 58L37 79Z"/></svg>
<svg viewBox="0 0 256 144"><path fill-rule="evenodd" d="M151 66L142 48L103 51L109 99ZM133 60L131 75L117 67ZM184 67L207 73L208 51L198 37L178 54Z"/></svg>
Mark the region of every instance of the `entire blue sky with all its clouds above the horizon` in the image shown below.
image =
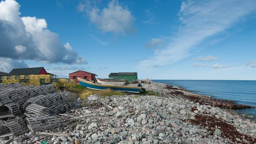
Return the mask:
<svg viewBox="0 0 256 144"><path fill-rule="evenodd" d="M255 0L0 0L0 71L256 80Z"/></svg>

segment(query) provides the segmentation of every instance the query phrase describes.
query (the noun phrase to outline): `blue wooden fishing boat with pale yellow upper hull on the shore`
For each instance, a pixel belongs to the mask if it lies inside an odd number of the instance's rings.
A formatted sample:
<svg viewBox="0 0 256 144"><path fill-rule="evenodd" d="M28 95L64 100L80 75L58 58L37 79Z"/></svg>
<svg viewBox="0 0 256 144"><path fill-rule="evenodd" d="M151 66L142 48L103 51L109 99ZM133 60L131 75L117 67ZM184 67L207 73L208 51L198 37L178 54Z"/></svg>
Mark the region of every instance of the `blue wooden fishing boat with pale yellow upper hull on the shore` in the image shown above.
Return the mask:
<svg viewBox="0 0 256 144"><path fill-rule="evenodd" d="M81 86L90 88L93 90L117 90L122 92L128 92L128 93L140 93L140 90L142 87L132 87L132 86L125 86L125 85L103 85L103 84L96 84L93 82L88 82L84 79L77 78Z"/></svg>

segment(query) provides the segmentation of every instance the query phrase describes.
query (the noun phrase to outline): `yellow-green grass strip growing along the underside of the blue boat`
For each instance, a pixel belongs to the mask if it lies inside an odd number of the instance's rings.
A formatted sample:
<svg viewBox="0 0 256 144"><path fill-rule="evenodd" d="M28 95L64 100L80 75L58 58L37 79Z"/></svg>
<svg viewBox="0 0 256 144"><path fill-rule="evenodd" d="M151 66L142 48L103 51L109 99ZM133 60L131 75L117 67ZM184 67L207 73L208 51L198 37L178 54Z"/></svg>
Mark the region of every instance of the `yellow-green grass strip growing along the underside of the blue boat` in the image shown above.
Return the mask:
<svg viewBox="0 0 256 144"><path fill-rule="evenodd" d="M76 95L76 93L78 93L79 95L81 95L81 93L84 92L92 92L93 94L98 94L99 96L124 96L125 93L120 92L120 91L116 91L116 90L111 90L111 89L107 89L107 90L93 90L90 88L85 88L81 85L76 85L75 86L75 90L73 91L73 94Z"/></svg>

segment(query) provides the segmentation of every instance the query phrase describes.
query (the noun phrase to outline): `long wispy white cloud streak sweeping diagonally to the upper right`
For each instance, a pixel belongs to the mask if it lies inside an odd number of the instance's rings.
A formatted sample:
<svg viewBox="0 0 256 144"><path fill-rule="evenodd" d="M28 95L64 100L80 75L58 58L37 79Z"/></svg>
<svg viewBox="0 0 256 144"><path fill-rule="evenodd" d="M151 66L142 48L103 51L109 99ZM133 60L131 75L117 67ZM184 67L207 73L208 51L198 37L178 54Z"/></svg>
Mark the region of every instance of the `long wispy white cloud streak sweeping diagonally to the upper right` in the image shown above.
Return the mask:
<svg viewBox="0 0 256 144"><path fill-rule="evenodd" d="M189 56L189 50L216 35L256 9L255 0L187 0L179 11L180 29L166 48L143 60L138 69L168 65Z"/></svg>

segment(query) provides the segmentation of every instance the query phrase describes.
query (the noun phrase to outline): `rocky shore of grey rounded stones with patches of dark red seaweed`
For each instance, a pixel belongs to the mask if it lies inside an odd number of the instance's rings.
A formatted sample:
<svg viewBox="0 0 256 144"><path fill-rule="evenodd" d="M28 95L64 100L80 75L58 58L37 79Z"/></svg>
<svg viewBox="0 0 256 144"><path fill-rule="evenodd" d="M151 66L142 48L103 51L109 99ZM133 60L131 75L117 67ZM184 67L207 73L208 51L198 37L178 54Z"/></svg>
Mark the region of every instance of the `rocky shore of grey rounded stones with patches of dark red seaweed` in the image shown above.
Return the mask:
<svg viewBox="0 0 256 144"><path fill-rule="evenodd" d="M102 97L94 106L60 115L63 123L44 132L0 139L1 144L254 144L256 121L233 110L195 103L201 96L146 80L159 93ZM137 85L137 84L132 84Z"/></svg>

